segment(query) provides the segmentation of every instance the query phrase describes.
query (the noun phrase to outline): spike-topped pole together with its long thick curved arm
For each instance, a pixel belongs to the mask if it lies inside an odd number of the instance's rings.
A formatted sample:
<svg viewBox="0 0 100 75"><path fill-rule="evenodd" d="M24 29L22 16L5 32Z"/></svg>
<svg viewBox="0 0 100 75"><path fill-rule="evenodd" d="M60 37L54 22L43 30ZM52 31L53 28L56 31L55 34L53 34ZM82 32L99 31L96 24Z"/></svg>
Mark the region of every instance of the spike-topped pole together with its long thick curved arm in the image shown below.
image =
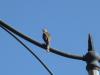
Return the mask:
<svg viewBox="0 0 100 75"><path fill-rule="evenodd" d="M43 45L42 43L40 43L34 39L31 39L29 36L26 36L25 34L22 34L21 32L17 31L16 29L12 28L10 25L4 23L1 20L0 20L0 27L6 28L10 32L14 33L15 35L27 40L28 42L30 42L40 48L43 48L44 50L46 49L45 45ZM57 54L57 55L60 55L63 57L67 57L67 58L76 59L76 60L82 60L82 61L86 62L87 63L86 70L89 75L100 75L99 74L100 56L94 49L91 34L89 34L89 36L88 36L88 50L87 51L88 52L85 55L76 55L76 54L64 53L64 52L61 52L61 50L50 48L50 52L52 52L54 54Z"/></svg>

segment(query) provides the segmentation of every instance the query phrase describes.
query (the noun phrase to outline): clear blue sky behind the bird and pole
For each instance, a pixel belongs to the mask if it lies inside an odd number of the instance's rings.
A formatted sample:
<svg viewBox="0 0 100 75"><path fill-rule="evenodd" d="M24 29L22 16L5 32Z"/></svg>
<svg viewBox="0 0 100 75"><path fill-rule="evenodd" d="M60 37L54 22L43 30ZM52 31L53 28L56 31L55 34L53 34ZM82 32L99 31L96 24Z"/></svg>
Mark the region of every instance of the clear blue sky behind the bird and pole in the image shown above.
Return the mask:
<svg viewBox="0 0 100 75"><path fill-rule="evenodd" d="M100 52L99 0L0 0L0 19L40 42L42 29L47 28L53 48L79 55L87 52L91 33L95 49ZM88 75L85 62L46 53L24 42L54 75ZM0 29L0 75L40 74L49 75L24 47Z"/></svg>

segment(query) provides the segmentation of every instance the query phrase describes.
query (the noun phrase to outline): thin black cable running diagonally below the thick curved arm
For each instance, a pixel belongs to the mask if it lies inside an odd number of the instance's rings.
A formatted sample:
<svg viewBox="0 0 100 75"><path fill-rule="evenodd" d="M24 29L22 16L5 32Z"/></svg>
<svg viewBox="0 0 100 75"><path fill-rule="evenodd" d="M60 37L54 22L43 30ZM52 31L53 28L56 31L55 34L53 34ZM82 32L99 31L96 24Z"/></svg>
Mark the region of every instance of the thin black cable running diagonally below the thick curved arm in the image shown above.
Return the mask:
<svg viewBox="0 0 100 75"><path fill-rule="evenodd" d="M49 68L43 63L43 61L28 47L26 46L18 37L16 37L12 32L10 32L8 29L0 26L3 28L6 32L8 32L13 38L15 38L22 46L24 46L41 64L42 66L48 71L50 75L53 75L53 73L49 70Z"/></svg>

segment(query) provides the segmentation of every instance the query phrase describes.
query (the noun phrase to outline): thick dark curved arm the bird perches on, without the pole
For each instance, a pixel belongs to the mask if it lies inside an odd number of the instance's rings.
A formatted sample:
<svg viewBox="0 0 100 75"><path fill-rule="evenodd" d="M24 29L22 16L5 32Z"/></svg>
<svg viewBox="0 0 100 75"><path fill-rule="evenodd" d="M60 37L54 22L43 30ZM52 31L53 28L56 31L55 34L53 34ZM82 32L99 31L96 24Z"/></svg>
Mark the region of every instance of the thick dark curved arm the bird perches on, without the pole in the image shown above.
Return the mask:
<svg viewBox="0 0 100 75"><path fill-rule="evenodd" d="M4 23L3 21L0 20L0 26L8 29L9 31L11 31L12 33L16 34L17 36L23 38L24 40L38 46L38 47L41 47L43 49L46 49L45 45L43 43L40 43L28 36L26 36L25 34L17 31L16 29L12 28L10 25ZM72 58L72 59L78 59L78 60L84 60L84 56L82 55L75 55L75 54L70 54L70 53L64 53L64 52L61 52L60 50L57 50L57 49L54 49L54 48L50 48L50 52L54 53L54 54L57 54L57 55L60 55L60 56L63 56L63 57L68 57L68 58Z"/></svg>

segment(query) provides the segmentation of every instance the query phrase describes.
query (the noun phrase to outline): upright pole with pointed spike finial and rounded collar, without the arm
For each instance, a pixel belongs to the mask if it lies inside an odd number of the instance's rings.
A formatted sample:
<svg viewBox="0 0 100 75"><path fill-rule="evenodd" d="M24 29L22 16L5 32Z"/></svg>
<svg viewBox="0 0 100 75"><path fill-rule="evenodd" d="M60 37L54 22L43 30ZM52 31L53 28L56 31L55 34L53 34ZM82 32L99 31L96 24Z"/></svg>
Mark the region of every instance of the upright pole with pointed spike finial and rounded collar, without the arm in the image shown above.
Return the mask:
<svg viewBox="0 0 100 75"><path fill-rule="evenodd" d="M89 75L99 75L100 70L100 56L94 49L93 40L91 34L88 37L88 52L84 56L84 61L86 61L86 70Z"/></svg>

